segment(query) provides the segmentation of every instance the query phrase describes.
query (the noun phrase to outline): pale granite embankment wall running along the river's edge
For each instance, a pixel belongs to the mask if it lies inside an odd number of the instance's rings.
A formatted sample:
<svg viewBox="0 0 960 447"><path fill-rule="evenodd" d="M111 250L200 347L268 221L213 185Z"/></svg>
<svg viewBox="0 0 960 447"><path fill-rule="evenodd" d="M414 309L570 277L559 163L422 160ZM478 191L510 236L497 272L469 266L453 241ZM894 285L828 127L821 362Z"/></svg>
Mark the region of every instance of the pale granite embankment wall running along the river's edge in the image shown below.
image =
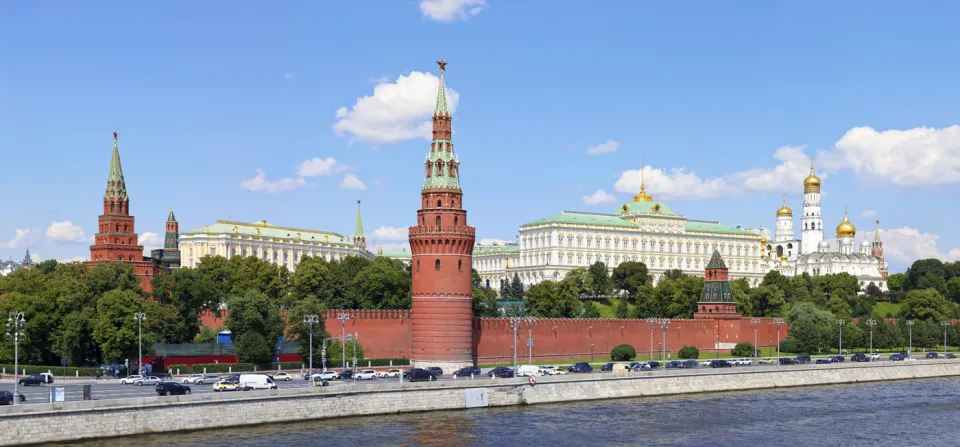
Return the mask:
<svg viewBox="0 0 960 447"><path fill-rule="evenodd" d="M0 445L38 444L344 416L960 376L960 361L885 362L364 384L0 408Z"/></svg>

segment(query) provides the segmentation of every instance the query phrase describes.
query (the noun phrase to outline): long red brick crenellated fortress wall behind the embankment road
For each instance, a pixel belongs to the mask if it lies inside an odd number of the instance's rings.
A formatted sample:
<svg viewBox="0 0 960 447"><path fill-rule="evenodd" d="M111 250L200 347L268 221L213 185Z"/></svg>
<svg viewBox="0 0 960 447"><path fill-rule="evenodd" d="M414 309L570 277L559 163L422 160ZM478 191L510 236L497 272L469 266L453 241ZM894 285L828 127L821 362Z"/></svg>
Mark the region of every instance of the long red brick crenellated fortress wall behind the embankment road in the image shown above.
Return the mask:
<svg viewBox="0 0 960 447"><path fill-rule="evenodd" d="M330 336L341 333L339 313L347 313L344 329L359 333L360 345L367 358L410 358L412 332L410 311L407 310L331 310L325 326ZM224 312L224 317L226 313ZM206 315L205 326L218 328L223 321ZM777 326L772 318L761 318L757 325L757 344L761 348L776 347ZM750 318L736 320L671 320L667 329L667 352L676 357L684 346L696 346L701 357L715 352L721 343L753 343L753 324ZM527 325L522 323L517 333L517 358L527 358ZM780 326L780 338L787 336L787 325ZM644 320L546 318L533 323L533 355L535 360L572 360L602 358L614 346L627 343L645 355L650 351L650 324ZM663 333L654 324L653 348L661 352ZM475 318L473 321L474 352L479 363L500 363L513 360L513 330L506 318ZM729 351L729 349L724 349Z"/></svg>

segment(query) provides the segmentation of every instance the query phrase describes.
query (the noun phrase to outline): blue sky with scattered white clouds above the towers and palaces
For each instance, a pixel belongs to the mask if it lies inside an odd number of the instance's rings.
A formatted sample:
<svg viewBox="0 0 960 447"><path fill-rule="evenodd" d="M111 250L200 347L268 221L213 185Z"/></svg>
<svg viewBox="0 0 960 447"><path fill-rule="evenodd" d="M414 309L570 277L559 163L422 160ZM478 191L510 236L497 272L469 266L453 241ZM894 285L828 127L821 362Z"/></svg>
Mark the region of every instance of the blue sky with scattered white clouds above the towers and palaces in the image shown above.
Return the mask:
<svg viewBox="0 0 960 447"><path fill-rule="evenodd" d="M674 210L773 228L817 156L826 227L880 219L892 270L960 258L956 2L55 5L0 3L4 260L89 256L114 129L146 245L171 207L349 234L360 199L396 247L440 57L481 238L614 210L641 153Z"/></svg>

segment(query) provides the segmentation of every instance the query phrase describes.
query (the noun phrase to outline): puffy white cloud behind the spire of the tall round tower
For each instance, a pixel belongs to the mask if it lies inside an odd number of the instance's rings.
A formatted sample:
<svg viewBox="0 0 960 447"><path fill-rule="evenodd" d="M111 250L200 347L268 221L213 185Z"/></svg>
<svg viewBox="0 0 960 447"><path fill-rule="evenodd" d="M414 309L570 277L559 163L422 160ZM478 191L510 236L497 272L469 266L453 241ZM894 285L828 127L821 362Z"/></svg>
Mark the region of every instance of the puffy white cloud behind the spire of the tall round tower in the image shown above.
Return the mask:
<svg viewBox="0 0 960 447"><path fill-rule="evenodd" d="M437 101L440 79L430 73L414 71L383 82L373 88L372 96L358 98L350 109L337 109L333 131L349 135L351 142L397 143L417 138L429 139L430 117ZM460 94L447 88L450 113L457 108Z"/></svg>

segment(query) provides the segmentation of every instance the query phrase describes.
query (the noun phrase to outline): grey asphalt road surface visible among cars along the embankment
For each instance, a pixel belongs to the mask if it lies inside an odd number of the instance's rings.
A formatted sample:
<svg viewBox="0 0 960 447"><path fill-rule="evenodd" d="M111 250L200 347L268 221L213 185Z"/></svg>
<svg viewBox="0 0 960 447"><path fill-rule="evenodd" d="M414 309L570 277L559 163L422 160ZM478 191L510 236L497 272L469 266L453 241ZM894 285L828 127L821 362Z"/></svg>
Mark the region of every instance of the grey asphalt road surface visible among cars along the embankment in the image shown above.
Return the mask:
<svg viewBox="0 0 960 447"><path fill-rule="evenodd" d="M706 360L706 359L704 359L704 360ZM704 361L704 360L700 360L700 361ZM923 360L918 360L918 361L936 361L936 360L925 360L925 359L923 359ZM884 361L884 363L885 363L885 361ZM736 373L736 372L742 372L742 371L745 371L745 370L749 370L749 371L768 371L768 370L773 370L773 369L776 369L776 368L780 368L780 369L787 369L787 368L789 368L789 369L806 370L806 369L817 369L817 368L822 368L822 367L836 367L836 366L847 366L847 365L850 365L850 362L849 362L849 361L848 361L848 362L845 362L845 363L842 363L842 364L836 364L836 363L834 363L834 364L830 364L830 365L808 364L808 365L780 366L780 365L758 365L758 364L754 364L754 365L749 365L749 366L737 366L737 367L732 367L732 368L720 368L720 369L710 369L710 368L704 368L704 367L691 368L691 369L665 369L665 368L659 368L659 369L656 369L656 370L653 370L653 371L646 371L646 372L641 372L641 373L627 373L627 374L636 374L636 375L638 375L638 376L640 376L640 377L658 377L658 376L663 376L663 375L697 374L697 373L702 373L702 372L705 372L705 371L710 371L710 372L712 372L712 373ZM489 370L490 370L489 368L483 369L483 370L482 370L482 374L481 374L480 376L477 376L477 377L474 378L474 379L460 378L460 379L457 379L457 380L472 380L472 381L475 381L475 382L492 382L492 381L495 381L495 380L502 380L502 379L491 379L491 378L487 377L486 374L487 374L487 372L488 372ZM573 376L573 375L583 376L583 377L591 377L591 376L598 376L598 375L601 375L601 374L610 374L610 373L609 373L609 372L606 372L606 371L600 371L599 369L597 369L597 370L594 370L594 372L592 372L592 373L581 373L581 374L570 373L570 374L568 374L568 377L569 377L569 376ZM541 377L541 378L538 378L538 380L550 380L550 379L551 379L550 377ZM176 381L179 381L180 379L175 379L175 380L176 380ZM454 380L454 379L453 379L449 374L446 374L446 375L444 375L444 376L441 376L438 380L440 380L440 381L449 381L449 380ZM400 380L399 380L399 379L376 379L376 380L373 380L373 381L332 380L332 381L330 381L329 383L330 383L330 386L331 386L331 387L339 388L339 387L350 387L350 386L355 385L355 384L358 383L358 382L359 382L359 383L363 383L363 384L375 383L375 384L378 384L378 385L382 385L382 386L384 386L384 387L398 386L398 385L400 384ZM96 399L96 400L120 399L120 398L129 398L129 397L148 397L148 396L156 396L156 395L157 395L157 393L156 393L156 391L154 390L154 387L153 387L152 385L143 385L143 386L121 385L121 384L119 384L118 381L116 381L116 380L106 380L106 381L64 381L64 382L56 383L54 386L57 386L57 387L62 386L62 387L64 387L64 388L66 388L64 391L65 391L65 393L66 393L66 400L67 400L67 401L78 401L78 400L82 400L82 398L83 398L82 385L83 385L83 384L86 384L86 383L89 383L89 384L92 384L92 385L93 385L93 389L92 389L91 392L92 392L93 398ZM310 385L311 385L310 382L308 382L308 381L306 381L306 380L303 380L302 378L299 378L299 376L297 376L296 379L293 379L293 380L290 380L290 381L280 381L280 382L277 383L278 388L281 388L281 389L284 389L284 388L303 388L303 387L308 387L308 386L310 386ZM213 393L213 392L215 392L215 391L213 391L213 386L212 386L212 385L188 385L188 386L190 387L191 392L192 392L193 394L198 394L198 393ZM52 388L52 386L29 386L29 387L20 387L20 393L23 394L24 397L26 397L26 399L27 399L26 402L24 402L24 404L25 404L25 405L30 405L30 404L39 404L39 403L49 402L49 400L50 400L50 388ZM12 381L11 381L11 383L3 383L3 384L0 384L0 389L13 391L13 383L12 383ZM232 393L232 391L226 391L226 392Z"/></svg>

